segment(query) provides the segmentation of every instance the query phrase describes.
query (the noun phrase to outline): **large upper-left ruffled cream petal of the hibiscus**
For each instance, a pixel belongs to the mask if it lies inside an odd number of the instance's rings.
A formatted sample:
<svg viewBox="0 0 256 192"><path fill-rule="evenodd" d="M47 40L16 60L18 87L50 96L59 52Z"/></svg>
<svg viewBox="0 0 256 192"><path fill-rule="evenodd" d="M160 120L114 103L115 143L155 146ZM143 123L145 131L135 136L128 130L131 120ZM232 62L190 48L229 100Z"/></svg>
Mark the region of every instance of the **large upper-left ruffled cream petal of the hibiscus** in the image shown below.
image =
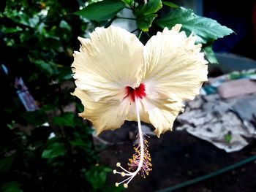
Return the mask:
<svg viewBox="0 0 256 192"><path fill-rule="evenodd" d="M122 28L96 28L90 39L78 38L80 52L72 64L75 84L94 101L121 101L127 85L141 80L143 44Z"/></svg>

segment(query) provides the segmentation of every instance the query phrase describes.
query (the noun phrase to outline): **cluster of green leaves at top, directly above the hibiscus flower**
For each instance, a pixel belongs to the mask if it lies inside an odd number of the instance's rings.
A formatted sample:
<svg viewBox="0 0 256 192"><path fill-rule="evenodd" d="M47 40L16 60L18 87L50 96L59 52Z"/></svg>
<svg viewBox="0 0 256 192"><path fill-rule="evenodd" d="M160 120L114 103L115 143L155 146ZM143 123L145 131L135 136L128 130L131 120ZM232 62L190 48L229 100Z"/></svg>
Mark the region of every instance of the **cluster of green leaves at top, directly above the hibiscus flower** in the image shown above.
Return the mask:
<svg viewBox="0 0 256 192"><path fill-rule="evenodd" d="M193 32L197 37L196 43L202 44L206 59L211 64L218 63L212 50L213 42L233 33L230 28L221 26L216 20L200 17L195 15L192 9L179 7L170 1L162 0L104 0L89 4L75 14L89 20L101 21L102 26L110 26L113 20L119 18L116 13L122 9L130 9L135 16L135 18L127 19L136 20L138 27L136 31L144 32L144 37L141 38L143 42L147 42L148 37L157 31L162 31L162 28L172 28L177 23L182 24L181 30L187 35ZM102 22L104 20L109 20L109 23L105 25Z"/></svg>

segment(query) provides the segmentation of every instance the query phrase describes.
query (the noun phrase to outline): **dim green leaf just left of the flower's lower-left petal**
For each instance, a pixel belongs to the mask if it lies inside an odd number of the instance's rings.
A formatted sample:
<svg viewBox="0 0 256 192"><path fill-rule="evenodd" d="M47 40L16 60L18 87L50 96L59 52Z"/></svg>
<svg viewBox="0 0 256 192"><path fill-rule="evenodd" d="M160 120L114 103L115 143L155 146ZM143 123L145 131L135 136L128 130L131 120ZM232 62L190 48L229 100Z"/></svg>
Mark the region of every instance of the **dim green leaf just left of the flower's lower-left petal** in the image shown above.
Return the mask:
<svg viewBox="0 0 256 192"><path fill-rule="evenodd" d="M75 127L74 113L64 112L61 116L53 118L53 124L56 126L71 126Z"/></svg>

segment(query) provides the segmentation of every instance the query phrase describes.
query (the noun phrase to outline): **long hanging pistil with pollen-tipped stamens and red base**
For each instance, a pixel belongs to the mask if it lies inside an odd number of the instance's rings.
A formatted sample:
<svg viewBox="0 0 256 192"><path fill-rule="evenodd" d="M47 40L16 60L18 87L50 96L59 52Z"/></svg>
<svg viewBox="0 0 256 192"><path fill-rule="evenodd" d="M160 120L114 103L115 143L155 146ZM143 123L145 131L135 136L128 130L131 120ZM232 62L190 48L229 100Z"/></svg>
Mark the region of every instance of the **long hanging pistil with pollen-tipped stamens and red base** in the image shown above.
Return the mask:
<svg viewBox="0 0 256 192"><path fill-rule="evenodd" d="M144 89L145 93L145 85L140 84L138 88ZM118 185L124 183L124 188L128 187L129 182L137 175L140 174L141 177L146 177L148 176L149 172L152 170L152 164L151 164L151 155L148 153L148 141L145 138L145 135L142 132L141 129L141 123L140 123L140 114L139 114L139 107L138 107L138 98L140 98L138 95L136 95L136 89L134 90L134 99L135 99L135 107L136 107L136 114L137 114L137 120L138 120L138 146L134 147L135 149L135 154L132 155L132 158L129 159L129 169L124 169L123 166L121 166L120 163L117 163L116 166L121 169L121 172L118 172L116 169L113 170L113 174L121 174L122 177L127 177L123 181L116 183L116 187ZM140 91L138 91L140 92ZM146 96L146 93L145 93ZM132 97L132 95L131 95Z"/></svg>

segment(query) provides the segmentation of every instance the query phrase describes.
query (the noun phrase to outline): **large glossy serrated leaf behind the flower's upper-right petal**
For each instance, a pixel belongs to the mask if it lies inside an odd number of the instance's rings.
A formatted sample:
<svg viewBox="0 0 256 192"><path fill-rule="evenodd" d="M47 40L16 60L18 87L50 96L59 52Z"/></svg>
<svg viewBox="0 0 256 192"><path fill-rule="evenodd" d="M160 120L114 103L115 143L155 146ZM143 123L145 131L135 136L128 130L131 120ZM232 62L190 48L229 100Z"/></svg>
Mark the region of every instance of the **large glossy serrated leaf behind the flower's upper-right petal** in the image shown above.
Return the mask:
<svg viewBox="0 0 256 192"><path fill-rule="evenodd" d="M197 43L206 44L233 33L233 30L221 26L216 20L197 16L192 9L184 7L174 9L157 20L157 24L162 28L172 28L176 23L182 24L182 29L187 35L193 31L197 37Z"/></svg>

